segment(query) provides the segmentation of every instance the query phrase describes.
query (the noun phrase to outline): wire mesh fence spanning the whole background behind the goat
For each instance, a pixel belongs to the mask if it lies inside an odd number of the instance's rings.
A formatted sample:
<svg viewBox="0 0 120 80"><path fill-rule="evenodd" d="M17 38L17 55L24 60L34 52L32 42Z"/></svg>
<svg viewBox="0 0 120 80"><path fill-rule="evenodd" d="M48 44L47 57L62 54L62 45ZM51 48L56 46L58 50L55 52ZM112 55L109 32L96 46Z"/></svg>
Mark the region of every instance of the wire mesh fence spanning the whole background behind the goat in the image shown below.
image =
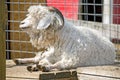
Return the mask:
<svg viewBox="0 0 120 80"><path fill-rule="evenodd" d="M6 58L31 57L37 50L29 37L19 30L31 5L57 7L75 25L91 27L114 42L117 59L120 59L120 0L7 0L8 26L6 27ZM29 54L29 55L28 55Z"/></svg>

